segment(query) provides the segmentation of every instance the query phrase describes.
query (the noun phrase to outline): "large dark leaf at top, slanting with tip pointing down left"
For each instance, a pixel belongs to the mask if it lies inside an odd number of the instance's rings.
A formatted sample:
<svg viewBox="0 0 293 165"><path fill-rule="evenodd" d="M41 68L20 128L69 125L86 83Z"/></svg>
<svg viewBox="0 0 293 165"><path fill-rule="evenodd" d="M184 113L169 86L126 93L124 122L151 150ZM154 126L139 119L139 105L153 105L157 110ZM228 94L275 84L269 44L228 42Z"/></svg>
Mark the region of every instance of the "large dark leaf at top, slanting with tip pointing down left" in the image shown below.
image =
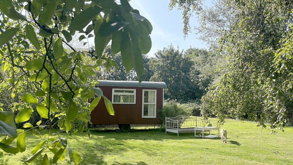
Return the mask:
<svg viewBox="0 0 293 165"><path fill-rule="evenodd" d="M68 27L69 31L82 30L88 25L97 15L102 11L102 8L98 6L89 7L74 17L71 24Z"/></svg>

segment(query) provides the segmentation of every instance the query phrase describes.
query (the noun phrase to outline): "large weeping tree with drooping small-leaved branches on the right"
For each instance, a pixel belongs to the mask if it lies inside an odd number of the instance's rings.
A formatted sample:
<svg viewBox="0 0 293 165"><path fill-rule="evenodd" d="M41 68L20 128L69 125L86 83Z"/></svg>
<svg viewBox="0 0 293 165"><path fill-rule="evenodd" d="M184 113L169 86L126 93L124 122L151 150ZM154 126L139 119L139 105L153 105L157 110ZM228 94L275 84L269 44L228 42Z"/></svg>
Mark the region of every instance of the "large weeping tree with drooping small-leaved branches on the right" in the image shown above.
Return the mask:
<svg viewBox="0 0 293 165"><path fill-rule="evenodd" d="M292 1L235 0L227 6L235 9L235 22L218 41L226 73L202 98L202 114L216 115L219 124L228 115L247 116L283 130L292 114Z"/></svg>

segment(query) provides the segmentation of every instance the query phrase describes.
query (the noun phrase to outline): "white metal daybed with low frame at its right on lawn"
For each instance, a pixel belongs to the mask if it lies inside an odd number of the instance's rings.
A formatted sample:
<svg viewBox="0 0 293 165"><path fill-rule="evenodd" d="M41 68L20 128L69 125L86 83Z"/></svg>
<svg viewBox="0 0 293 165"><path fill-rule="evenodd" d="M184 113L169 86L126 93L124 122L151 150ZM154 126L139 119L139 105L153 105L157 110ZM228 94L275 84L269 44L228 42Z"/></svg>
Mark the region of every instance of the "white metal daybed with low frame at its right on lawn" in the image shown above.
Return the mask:
<svg viewBox="0 0 293 165"><path fill-rule="evenodd" d="M186 117L184 115L179 115L174 118L165 118L166 130L167 132L177 133L190 133L194 132L195 137L202 138L215 138L216 135L211 135L211 130L219 130L218 127L204 127L201 125L201 122L198 122L197 117ZM202 135L197 136L196 133L200 132ZM204 137L203 132L210 132L209 136ZM219 134L219 132L218 132Z"/></svg>

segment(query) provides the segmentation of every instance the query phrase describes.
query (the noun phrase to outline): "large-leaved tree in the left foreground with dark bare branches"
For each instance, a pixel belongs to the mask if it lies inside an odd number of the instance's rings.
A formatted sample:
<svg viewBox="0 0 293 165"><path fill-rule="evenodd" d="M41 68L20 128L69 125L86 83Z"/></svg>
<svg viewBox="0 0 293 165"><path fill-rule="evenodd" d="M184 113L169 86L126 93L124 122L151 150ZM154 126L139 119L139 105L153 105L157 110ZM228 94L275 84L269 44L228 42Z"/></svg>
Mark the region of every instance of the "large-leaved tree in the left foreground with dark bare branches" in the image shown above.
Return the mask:
<svg viewBox="0 0 293 165"><path fill-rule="evenodd" d="M79 164L80 156L70 149L67 140L53 138L58 134L53 127L58 125L70 135L86 131L90 136L87 123L101 98L109 114L114 115L111 102L100 88L94 87L93 75L103 61L116 65L103 53L111 40L111 52L121 52L126 72L135 68L140 81L141 54L151 49L151 23L127 0L120 4L114 0L2 0L0 15L1 74L9 75L1 76L1 91L10 91L11 98L21 100L13 100L8 107L18 112L15 117L1 107L0 134L7 136L0 148L13 154L24 152L26 134L32 132L46 141L40 141L25 162L33 162L44 152L42 164L50 164L46 152L53 152L55 164L68 150L71 161ZM76 31L83 33L80 41L94 37L94 52L76 50L69 44ZM42 118L34 126L25 123L33 110ZM16 129L15 123L28 129ZM41 135L37 130L44 128L49 134ZM11 146L15 139L16 147Z"/></svg>

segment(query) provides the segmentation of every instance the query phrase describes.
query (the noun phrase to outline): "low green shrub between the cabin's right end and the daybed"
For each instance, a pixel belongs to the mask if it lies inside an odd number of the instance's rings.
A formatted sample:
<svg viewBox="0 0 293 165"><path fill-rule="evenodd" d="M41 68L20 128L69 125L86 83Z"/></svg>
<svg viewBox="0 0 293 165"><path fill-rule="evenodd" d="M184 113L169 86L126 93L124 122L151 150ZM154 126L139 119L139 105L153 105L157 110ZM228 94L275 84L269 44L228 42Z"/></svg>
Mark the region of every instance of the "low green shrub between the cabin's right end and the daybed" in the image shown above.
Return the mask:
<svg viewBox="0 0 293 165"><path fill-rule="evenodd" d="M173 118L179 115L191 116L192 107L187 107L185 104L179 104L176 100L165 100L164 107L158 110L159 118L165 121L165 118Z"/></svg>

